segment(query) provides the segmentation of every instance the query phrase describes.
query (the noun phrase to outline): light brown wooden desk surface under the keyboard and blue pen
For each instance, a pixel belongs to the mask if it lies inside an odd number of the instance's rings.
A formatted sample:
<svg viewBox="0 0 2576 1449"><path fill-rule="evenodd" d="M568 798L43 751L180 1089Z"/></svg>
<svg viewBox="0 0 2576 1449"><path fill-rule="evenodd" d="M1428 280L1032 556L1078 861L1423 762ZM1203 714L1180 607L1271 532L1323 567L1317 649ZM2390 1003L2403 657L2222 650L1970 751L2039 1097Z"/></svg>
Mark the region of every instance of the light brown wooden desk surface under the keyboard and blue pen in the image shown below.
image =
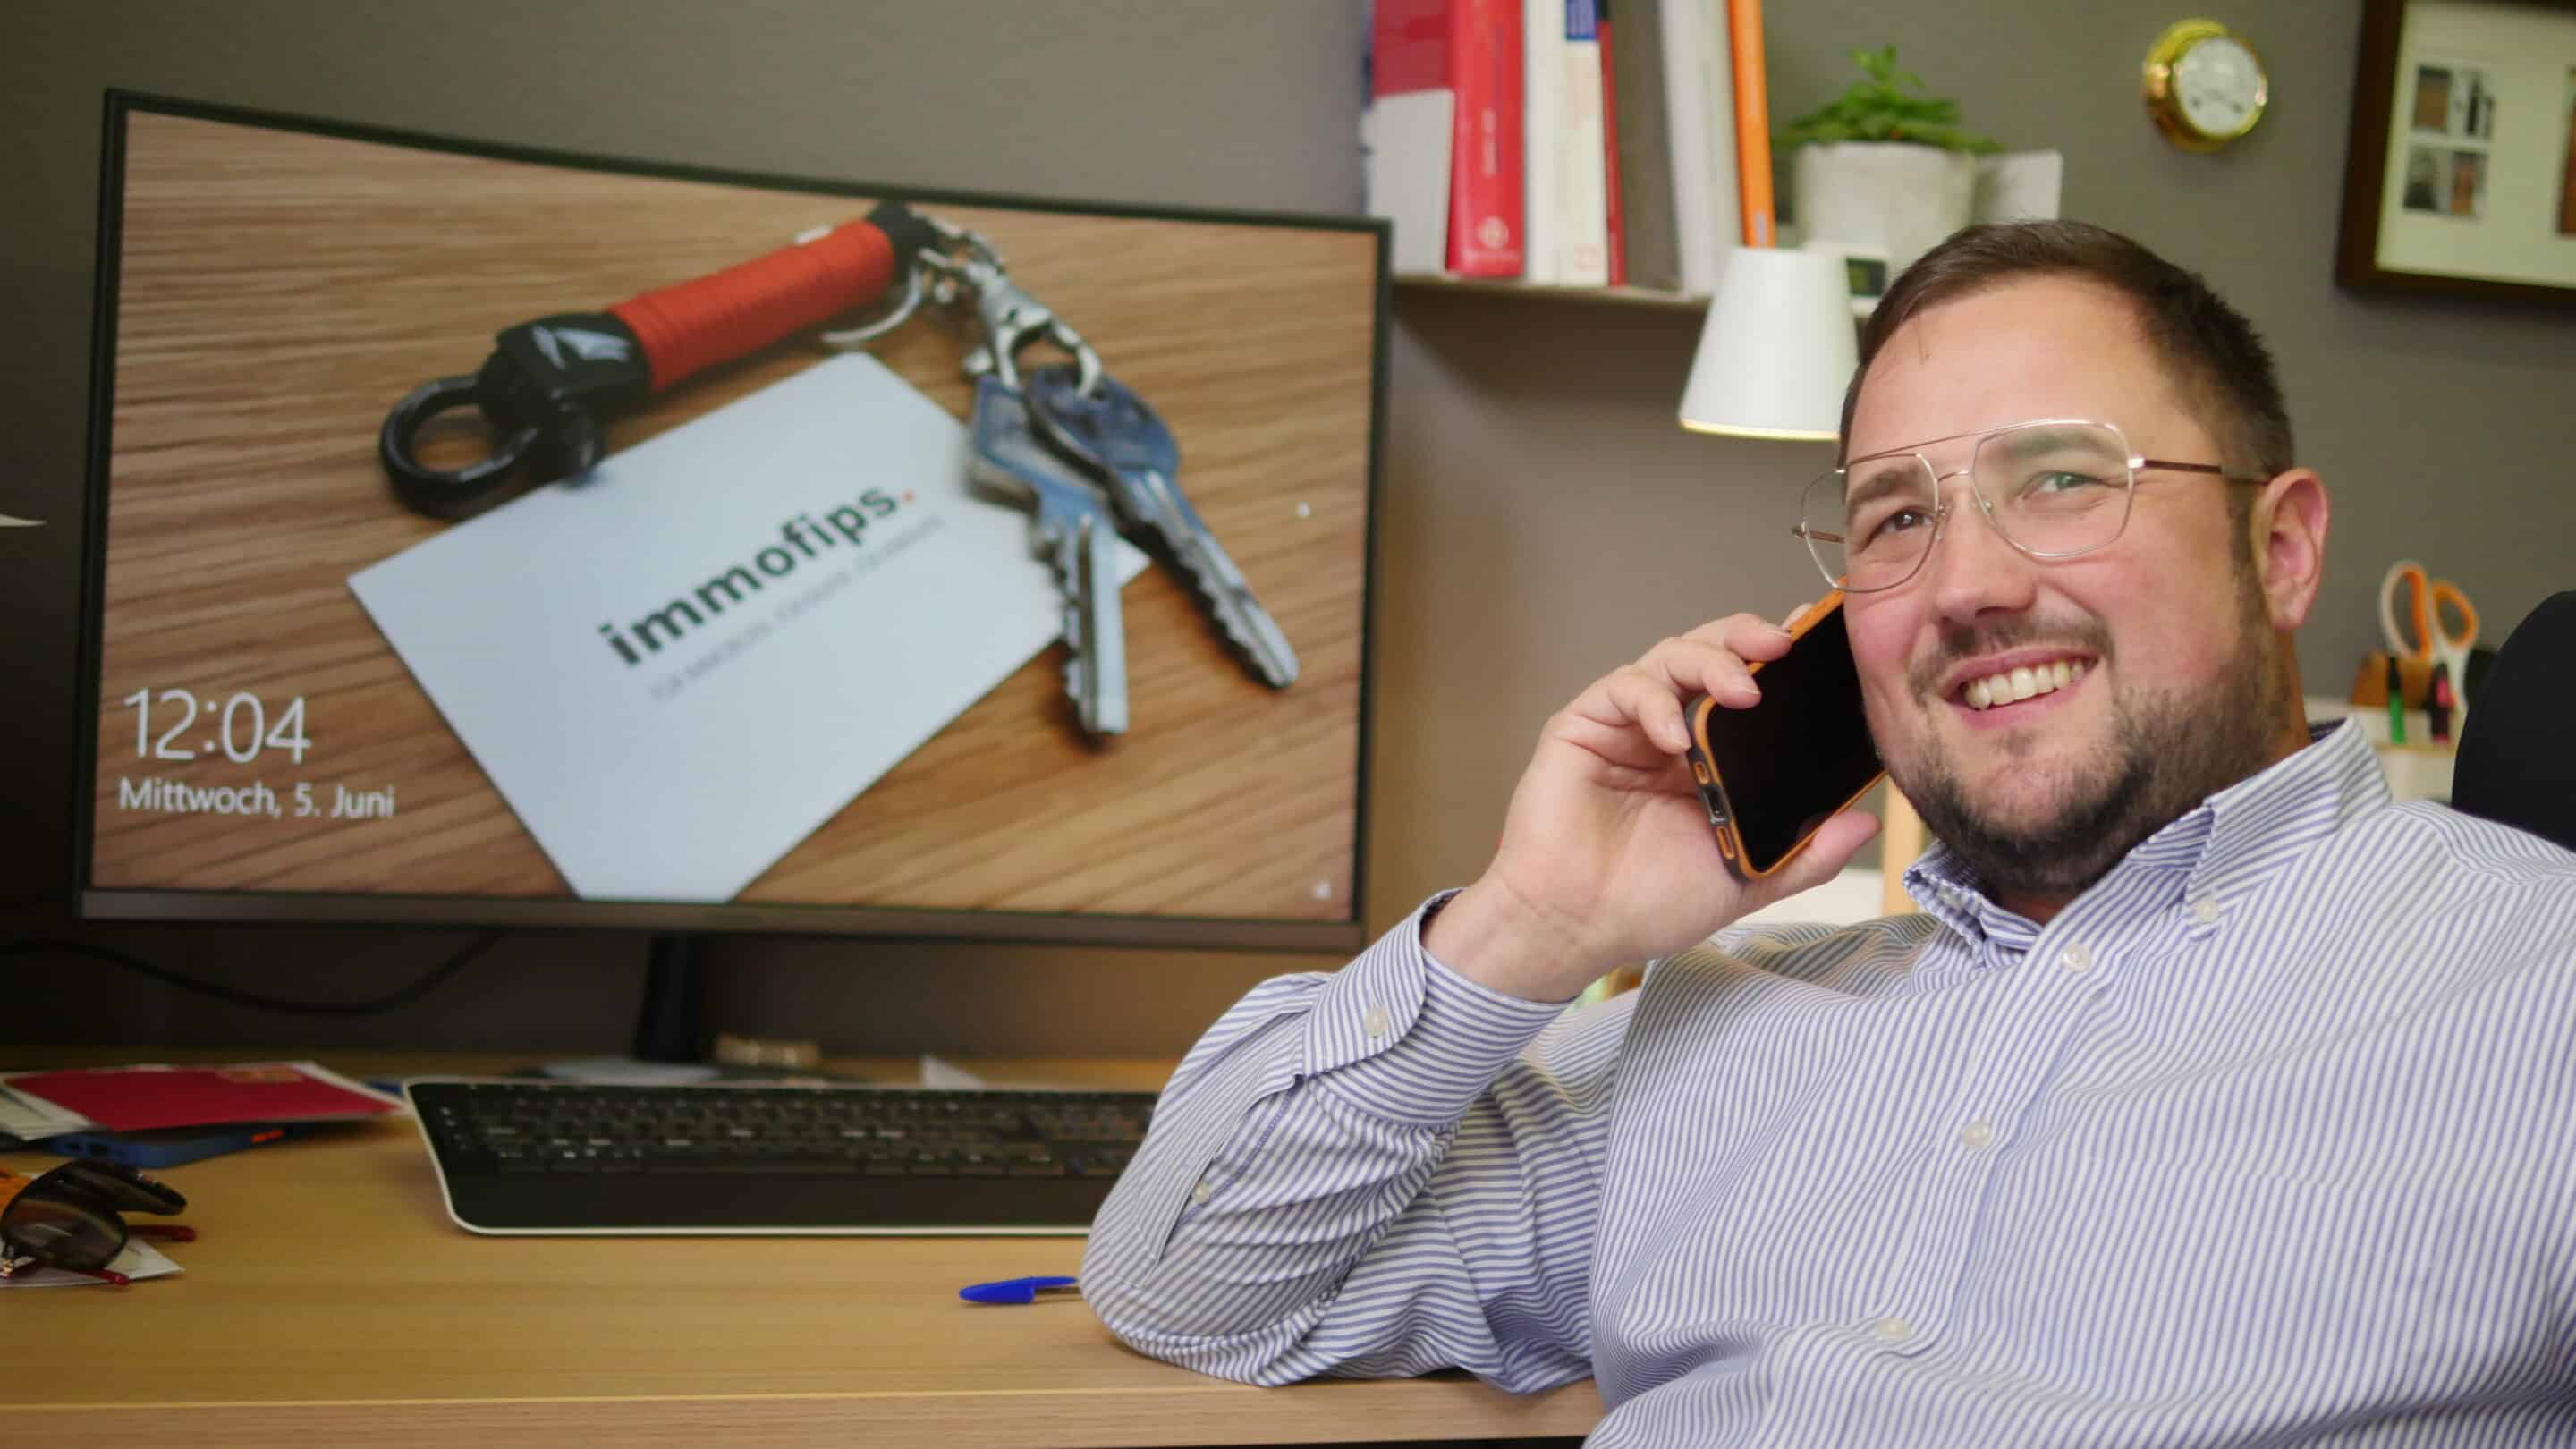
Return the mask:
<svg viewBox="0 0 2576 1449"><path fill-rule="evenodd" d="M116 1060L0 1052L13 1067ZM994 1078L1162 1075L1149 1062L1012 1067ZM976 1279L1074 1271L1072 1238L477 1238L448 1222L407 1119L160 1176L188 1194L183 1222L198 1230L170 1250L185 1274L0 1289L10 1359L31 1369L8 1397L33 1400L0 1405L0 1439L971 1449L1574 1436L1600 1418L1589 1385L1538 1397L1466 1377L1249 1390L1123 1348L1072 1299L958 1302Z"/></svg>

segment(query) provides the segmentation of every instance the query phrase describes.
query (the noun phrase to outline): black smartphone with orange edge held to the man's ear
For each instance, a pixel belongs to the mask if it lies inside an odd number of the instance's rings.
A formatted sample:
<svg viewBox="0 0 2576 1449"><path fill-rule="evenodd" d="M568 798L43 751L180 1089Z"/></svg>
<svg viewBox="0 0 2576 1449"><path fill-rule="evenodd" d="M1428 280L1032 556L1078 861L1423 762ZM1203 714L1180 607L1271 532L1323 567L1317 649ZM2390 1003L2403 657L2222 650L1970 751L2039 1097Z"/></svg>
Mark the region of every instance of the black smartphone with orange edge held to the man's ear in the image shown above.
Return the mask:
<svg viewBox="0 0 2576 1449"><path fill-rule="evenodd" d="M1690 779L1718 853L1741 879L1762 879L1857 804L1886 766L1860 706L1842 590L1798 616L1785 655L1749 668L1762 686L1752 709L1708 696L1690 704Z"/></svg>

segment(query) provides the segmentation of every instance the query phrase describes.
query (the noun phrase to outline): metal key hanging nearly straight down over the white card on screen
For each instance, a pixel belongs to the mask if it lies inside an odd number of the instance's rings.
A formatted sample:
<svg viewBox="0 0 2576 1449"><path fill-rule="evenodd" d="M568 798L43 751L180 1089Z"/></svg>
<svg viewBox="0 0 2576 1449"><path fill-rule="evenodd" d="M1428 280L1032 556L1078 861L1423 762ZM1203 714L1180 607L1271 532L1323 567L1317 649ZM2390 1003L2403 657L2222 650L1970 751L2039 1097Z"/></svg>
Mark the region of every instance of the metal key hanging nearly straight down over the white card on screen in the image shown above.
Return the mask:
<svg viewBox="0 0 2576 1449"><path fill-rule="evenodd" d="M1126 732L1126 619L1118 611L1118 523L1108 498L1030 431L1028 407L997 376L974 384L969 472L1033 513L1030 549L1064 590L1064 694L1082 732Z"/></svg>

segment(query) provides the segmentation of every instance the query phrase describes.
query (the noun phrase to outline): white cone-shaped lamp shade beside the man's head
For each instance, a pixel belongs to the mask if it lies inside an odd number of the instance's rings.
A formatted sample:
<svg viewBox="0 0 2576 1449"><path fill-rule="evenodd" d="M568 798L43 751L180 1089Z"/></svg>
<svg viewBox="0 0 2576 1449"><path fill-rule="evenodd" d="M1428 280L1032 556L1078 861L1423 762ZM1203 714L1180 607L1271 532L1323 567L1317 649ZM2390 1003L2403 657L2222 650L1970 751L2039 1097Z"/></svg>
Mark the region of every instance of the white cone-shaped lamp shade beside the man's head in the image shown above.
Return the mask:
<svg viewBox="0 0 2576 1449"><path fill-rule="evenodd" d="M1842 258L1736 248L1708 299L1682 425L1829 443L1842 433L1842 389L1857 356Z"/></svg>

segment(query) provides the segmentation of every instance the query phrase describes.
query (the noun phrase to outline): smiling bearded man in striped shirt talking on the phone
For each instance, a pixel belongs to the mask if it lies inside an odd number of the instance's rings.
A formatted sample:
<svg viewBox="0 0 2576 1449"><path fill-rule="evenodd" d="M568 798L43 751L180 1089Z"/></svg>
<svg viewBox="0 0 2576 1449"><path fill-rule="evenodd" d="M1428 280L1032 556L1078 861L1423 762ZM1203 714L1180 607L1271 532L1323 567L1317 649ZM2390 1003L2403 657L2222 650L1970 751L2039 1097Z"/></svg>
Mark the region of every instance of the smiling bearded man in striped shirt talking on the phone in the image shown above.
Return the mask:
<svg viewBox="0 0 2576 1449"><path fill-rule="evenodd" d="M1682 696L1788 637L1667 639L1484 877L1190 1052L1100 1318L1252 1382L1592 1374L1600 1446L2576 1436L2576 856L2300 719L2326 490L2254 330L2097 227L1971 229L1844 441L1806 518L1922 915L1726 931L1875 825L1731 879Z"/></svg>

